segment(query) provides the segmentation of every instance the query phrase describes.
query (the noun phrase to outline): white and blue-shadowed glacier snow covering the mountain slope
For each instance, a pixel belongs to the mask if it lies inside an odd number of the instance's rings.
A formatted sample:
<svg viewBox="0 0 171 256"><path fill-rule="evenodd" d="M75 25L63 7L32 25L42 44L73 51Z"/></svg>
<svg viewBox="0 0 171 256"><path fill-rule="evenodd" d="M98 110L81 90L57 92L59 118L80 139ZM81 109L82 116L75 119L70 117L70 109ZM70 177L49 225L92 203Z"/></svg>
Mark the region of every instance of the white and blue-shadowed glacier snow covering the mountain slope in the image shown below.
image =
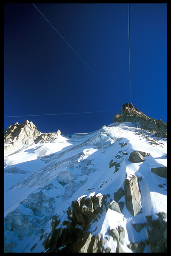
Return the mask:
<svg viewBox="0 0 171 256"><path fill-rule="evenodd" d="M114 192L124 189L126 174L142 177L142 213L133 217L125 205L122 214L108 209L91 224L90 231L106 239L109 229L124 227L122 247L126 252L132 252L127 247L130 242L148 239L146 227L137 233L132 224L145 223L146 215L157 218L158 212L167 212L167 179L151 172L153 167L167 166L167 141L151 137L147 131L139 134L140 131L130 122L115 123L92 133L61 136L53 143L33 143L6 156L4 251L45 252L43 241L51 232L52 216L59 216L62 224L71 201L83 196L109 194L111 202ZM135 150L149 154L144 162L128 161ZM114 173L115 168L109 167L111 160L121 163L119 171ZM120 201L125 203L124 196ZM106 239L104 249L109 247L116 252L116 246L111 237ZM150 247L146 246L144 252L151 252Z"/></svg>

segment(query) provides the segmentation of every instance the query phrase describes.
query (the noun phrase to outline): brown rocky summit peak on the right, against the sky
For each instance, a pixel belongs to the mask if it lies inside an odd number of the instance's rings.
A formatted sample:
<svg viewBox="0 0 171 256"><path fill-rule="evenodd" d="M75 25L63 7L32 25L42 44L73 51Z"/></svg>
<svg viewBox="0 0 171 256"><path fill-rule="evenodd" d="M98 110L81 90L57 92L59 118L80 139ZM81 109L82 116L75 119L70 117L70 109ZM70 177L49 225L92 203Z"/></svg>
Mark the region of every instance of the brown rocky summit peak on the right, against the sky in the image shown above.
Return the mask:
<svg viewBox="0 0 171 256"><path fill-rule="evenodd" d="M165 134L167 133L167 123L164 123L162 120L146 116L142 111L138 111L137 108L134 108L132 103L126 103L123 105L120 115L117 114L114 116L114 122L132 122L143 129L162 132L162 137L163 132ZM165 134L164 136L166 136Z"/></svg>

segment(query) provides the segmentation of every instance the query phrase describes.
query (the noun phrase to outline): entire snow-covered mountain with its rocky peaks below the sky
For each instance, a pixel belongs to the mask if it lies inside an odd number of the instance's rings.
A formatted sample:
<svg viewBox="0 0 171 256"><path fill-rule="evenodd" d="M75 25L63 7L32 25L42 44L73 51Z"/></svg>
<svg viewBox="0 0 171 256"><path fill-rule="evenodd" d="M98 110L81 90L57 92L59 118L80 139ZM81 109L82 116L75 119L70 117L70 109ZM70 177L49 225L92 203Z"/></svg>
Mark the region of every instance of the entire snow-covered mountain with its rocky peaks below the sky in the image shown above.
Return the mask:
<svg viewBox="0 0 171 256"><path fill-rule="evenodd" d="M4 133L4 252L167 252L167 124L129 103L91 133Z"/></svg>

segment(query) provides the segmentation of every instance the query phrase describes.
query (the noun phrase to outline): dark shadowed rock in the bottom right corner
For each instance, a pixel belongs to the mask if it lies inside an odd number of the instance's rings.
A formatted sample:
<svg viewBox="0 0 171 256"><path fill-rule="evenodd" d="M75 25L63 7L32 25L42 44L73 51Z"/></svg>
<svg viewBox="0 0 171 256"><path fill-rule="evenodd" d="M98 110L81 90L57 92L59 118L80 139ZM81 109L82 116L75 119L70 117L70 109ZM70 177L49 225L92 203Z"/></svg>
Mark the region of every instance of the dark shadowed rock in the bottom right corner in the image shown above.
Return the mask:
<svg viewBox="0 0 171 256"><path fill-rule="evenodd" d="M157 214L158 219L152 220L152 216L145 216L147 219L147 232L151 253L167 253L167 213Z"/></svg>

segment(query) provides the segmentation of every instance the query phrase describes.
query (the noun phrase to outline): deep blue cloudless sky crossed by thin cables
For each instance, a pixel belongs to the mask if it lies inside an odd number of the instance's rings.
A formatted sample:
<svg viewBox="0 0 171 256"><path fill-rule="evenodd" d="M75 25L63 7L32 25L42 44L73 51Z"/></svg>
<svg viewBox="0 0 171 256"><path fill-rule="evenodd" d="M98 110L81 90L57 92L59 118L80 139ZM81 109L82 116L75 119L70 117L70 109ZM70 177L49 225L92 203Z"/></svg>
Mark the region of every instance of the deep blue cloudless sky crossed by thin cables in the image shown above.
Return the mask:
<svg viewBox="0 0 171 256"><path fill-rule="evenodd" d="M91 132L130 102L127 4L4 4L4 118L41 132ZM167 4L130 4L131 102L167 122ZM103 85L105 84L108 89Z"/></svg>

